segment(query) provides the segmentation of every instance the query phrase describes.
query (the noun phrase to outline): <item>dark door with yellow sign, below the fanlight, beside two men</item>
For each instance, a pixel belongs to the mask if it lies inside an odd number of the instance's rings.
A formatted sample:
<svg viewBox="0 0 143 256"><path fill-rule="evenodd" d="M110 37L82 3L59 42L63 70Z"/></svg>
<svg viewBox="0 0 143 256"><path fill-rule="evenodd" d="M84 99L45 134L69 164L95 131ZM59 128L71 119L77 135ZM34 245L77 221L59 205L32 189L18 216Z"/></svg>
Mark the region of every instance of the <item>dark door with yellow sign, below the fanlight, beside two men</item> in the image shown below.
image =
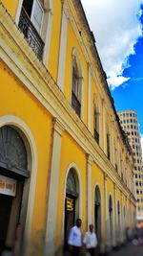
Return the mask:
<svg viewBox="0 0 143 256"><path fill-rule="evenodd" d="M65 245L67 247L69 232L75 222L75 198L67 195L65 201Z"/></svg>

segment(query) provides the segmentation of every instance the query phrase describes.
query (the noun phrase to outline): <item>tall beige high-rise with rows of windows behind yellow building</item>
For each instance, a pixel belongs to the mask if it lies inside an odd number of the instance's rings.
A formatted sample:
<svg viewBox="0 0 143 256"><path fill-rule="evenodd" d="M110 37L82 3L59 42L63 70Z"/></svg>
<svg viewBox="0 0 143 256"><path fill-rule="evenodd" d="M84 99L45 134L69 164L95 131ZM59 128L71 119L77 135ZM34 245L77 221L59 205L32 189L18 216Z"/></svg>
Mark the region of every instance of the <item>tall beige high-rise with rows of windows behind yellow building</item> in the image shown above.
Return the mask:
<svg viewBox="0 0 143 256"><path fill-rule="evenodd" d="M143 221L143 166L137 112L133 110L120 111L118 116L133 150L134 186L137 199L136 218L137 221Z"/></svg>

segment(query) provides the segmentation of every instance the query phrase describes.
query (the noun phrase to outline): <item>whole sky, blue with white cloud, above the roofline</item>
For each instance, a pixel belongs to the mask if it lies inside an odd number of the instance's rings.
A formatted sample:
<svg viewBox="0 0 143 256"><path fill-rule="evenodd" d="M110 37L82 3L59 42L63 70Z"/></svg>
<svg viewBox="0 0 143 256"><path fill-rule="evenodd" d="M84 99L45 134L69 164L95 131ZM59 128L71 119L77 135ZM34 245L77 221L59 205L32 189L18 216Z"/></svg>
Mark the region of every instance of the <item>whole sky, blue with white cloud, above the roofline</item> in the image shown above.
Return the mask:
<svg viewBox="0 0 143 256"><path fill-rule="evenodd" d="M81 0L117 111L137 111L143 148L143 0Z"/></svg>

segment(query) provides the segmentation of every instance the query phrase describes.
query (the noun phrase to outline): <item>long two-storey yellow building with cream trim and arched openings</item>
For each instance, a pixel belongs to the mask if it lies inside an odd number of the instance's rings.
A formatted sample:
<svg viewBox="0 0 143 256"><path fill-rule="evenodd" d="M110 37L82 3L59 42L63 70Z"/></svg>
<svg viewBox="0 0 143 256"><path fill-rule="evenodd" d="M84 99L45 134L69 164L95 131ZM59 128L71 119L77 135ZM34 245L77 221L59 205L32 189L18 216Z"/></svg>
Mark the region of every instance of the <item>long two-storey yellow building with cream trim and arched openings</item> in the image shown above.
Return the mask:
<svg viewBox="0 0 143 256"><path fill-rule="evenodd" d="M0 1L0 248L63 255L93 222L102 252L135 224L133 155L80 1Z"/></svg>

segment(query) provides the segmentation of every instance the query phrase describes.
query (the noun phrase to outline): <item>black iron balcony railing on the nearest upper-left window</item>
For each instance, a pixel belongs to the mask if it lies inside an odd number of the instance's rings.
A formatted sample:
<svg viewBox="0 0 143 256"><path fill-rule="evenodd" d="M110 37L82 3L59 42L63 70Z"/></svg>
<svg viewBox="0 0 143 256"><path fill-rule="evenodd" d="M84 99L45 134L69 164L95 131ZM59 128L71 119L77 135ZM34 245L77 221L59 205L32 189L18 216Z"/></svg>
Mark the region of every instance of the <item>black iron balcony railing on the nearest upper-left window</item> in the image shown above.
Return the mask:
<svg viewBox="0 0 143 256"><path fill-rule="evenodd" d="M24 10L24 8L22 8L18 26L25 35L25 38L29 45L31 46L33 52L39 59L42 59L44 42L41 39L40 35L38 35L34 26L32 25L31 19L27 12Z"/></svg>

